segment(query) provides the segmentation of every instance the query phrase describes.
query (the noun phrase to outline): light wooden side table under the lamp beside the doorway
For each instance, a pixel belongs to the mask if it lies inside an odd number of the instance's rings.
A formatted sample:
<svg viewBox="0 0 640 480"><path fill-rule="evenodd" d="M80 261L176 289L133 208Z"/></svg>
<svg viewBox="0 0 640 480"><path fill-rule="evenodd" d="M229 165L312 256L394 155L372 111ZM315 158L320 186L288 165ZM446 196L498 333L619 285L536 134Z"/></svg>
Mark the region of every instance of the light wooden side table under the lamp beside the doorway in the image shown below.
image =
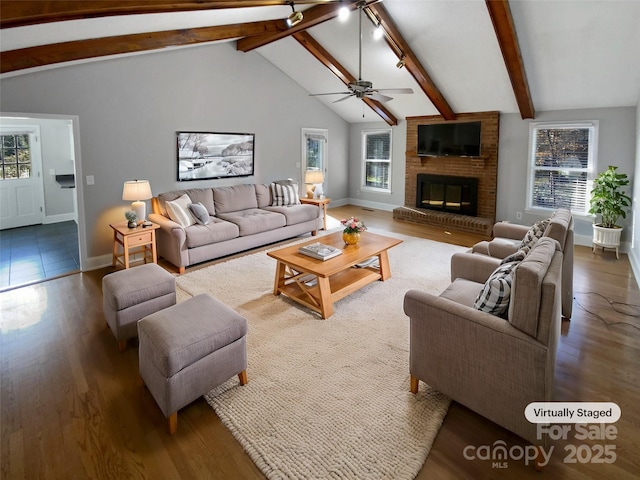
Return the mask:
<svg viewBox="0 0 640 480"><path fill-rule="evenodd" d="M109 226L113 229L114 267L120 263L124 268L129 268L131 265L129 256L132 253L142 253L144 263L147 263L147 256L151 257L153 263L158 263L156 229L160 228L160 225L152 223L147 227L139 225L137 228L129 228L124 221L112 223Z"/></svg>

